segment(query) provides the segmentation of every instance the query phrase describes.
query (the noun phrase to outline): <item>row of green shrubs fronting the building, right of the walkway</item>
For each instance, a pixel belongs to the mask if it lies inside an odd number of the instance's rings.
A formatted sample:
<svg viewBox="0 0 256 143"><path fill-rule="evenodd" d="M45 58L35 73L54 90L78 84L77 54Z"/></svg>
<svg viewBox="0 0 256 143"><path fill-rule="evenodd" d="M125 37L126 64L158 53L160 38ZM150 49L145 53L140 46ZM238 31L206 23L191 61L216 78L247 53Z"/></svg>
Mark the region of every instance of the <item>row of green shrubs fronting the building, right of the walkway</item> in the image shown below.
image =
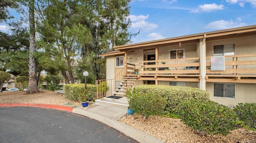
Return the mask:
<svg viewBox="0 0 256 143"><path fill-rule="evenodd" d="M135 87L134 92L127 92L127 97L135 112L147 117L161 114L165 109L166 116L177 115L198 133L227 135L238 124L256 129L256 103L238 104L232 110L210 101L209 93L198 88L142 85Z"/></svg>

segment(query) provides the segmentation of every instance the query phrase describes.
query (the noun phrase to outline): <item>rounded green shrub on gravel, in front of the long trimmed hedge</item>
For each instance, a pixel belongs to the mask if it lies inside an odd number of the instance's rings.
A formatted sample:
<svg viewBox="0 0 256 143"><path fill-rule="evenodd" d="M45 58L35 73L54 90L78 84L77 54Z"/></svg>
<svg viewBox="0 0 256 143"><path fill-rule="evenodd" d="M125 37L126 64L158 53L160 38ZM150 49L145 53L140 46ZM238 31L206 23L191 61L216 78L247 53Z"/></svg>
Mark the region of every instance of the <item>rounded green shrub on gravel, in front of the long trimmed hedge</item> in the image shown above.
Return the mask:
<svg viewBox="0 0 256 143"><path fill-rule="evenodd" d="M213 101L186 100L180 102L176 112L180 119L198 133L227 135L236 125L235 112Z"/></svg>

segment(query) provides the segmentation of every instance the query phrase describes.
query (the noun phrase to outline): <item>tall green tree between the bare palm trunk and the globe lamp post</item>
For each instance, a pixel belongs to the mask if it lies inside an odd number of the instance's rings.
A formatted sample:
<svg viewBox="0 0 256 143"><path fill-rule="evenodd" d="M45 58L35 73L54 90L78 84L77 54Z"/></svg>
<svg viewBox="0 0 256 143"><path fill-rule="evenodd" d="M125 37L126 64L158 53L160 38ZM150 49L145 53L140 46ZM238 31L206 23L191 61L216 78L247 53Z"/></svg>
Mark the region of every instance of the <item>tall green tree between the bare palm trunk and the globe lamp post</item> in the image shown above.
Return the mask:
<svg viewBox="0 0 256 143"><path fill-rule="evenodd" d="M82 45L91 41L90 31L81 24L88 11L82 4L80 0L49 0L40 25L42 39L48 44L43 47L46 55L56 63L55 69L62 73L68 84L74 83L73 66L78 51L81 51Z"/></svg>

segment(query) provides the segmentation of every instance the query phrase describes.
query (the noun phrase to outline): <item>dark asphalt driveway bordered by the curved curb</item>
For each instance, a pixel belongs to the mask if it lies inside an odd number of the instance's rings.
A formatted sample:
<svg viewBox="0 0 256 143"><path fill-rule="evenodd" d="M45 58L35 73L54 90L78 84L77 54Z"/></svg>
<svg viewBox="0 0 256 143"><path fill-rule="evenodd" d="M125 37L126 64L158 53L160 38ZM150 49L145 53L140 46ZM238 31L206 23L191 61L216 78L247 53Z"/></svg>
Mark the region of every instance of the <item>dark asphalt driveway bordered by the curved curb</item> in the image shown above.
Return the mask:
<svg viewBox="0 0 256 143"><path fill-rule="evenodd" d="M71 112L0 108L1 143L137 143L108 125Z"/></svg>

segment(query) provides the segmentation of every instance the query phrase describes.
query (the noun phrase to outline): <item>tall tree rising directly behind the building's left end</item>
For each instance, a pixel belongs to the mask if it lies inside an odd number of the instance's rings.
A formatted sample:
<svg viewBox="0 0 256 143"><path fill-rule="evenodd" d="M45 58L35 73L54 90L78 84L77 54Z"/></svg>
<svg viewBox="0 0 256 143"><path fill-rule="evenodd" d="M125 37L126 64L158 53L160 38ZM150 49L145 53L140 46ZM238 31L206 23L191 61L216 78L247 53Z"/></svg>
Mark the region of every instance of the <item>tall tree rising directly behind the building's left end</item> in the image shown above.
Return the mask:
<svg viewBox="0 0 256 143"><path fill-rule="evenodd" d="M112 51L114 46L129 43L131 37L138 34L128 32L129 3L130 0L98 0L95 7L96 18L82 21L92 33L91 43L84 46L83 57L93 57L90 58L90 63L94 65L93 70L97 80L106 78L106 64L104 64L106 59L98 55Z"/></svg>

